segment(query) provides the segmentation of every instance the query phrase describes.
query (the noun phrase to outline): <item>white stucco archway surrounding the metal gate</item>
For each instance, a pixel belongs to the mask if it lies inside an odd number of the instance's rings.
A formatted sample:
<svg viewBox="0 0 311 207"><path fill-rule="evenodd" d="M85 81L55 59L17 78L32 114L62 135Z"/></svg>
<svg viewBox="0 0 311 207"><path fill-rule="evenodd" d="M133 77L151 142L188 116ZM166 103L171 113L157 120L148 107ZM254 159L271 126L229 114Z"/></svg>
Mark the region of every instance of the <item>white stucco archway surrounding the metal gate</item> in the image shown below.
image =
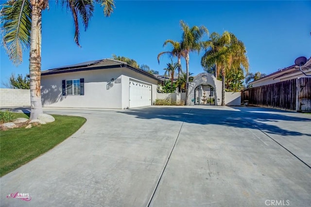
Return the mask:
<svg viewBox="0 0 311 207"><path fill-rule="evenodd" d="M208 72L198 74L194 77L192 82L189 82L187 105L194 105L194 90L200 85L212 86L215 89L215 105L221 105L222 82Z"/></svg>

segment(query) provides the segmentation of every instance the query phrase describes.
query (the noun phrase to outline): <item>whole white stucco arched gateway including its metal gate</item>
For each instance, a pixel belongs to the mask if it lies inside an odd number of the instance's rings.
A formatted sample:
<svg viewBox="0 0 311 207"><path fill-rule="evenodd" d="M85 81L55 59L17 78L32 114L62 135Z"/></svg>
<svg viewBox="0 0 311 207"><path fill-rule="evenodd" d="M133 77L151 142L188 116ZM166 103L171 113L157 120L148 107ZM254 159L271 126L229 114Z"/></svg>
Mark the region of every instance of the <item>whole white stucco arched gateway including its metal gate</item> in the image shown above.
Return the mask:
<svg viewBox="0 0 311 207"><path fill-rule="evenodd" d="M210 73L202 72L195 76L188 90L187 105L221 105L222 82Z"/></svg>

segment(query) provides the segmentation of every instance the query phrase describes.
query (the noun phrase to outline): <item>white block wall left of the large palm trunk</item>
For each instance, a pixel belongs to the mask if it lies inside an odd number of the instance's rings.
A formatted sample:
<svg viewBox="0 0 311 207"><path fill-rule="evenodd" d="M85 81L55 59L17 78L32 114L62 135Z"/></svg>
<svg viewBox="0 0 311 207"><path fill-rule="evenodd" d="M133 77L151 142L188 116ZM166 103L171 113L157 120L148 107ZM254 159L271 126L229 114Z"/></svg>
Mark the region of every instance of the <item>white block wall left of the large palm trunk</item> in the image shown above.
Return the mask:
<svg viewBox="0 0 311 207"><path fill-rule="evenodd" d="M30 106L30 90L0 88L0 107L16 106Z"/></svg>

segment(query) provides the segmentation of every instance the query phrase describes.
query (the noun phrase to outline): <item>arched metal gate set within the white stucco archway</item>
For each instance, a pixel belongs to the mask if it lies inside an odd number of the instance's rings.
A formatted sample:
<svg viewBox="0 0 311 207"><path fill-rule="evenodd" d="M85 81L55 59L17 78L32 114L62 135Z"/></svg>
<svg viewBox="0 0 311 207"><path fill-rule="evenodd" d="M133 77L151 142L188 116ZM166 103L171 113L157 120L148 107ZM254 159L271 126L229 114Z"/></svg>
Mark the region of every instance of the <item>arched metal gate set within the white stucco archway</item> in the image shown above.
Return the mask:
<svg viewBox="0 0 311 207"><path fill-rule="evenodd" d="M200 85L194 89L195 105L215 105L215 89L210 85Z"/></svg>

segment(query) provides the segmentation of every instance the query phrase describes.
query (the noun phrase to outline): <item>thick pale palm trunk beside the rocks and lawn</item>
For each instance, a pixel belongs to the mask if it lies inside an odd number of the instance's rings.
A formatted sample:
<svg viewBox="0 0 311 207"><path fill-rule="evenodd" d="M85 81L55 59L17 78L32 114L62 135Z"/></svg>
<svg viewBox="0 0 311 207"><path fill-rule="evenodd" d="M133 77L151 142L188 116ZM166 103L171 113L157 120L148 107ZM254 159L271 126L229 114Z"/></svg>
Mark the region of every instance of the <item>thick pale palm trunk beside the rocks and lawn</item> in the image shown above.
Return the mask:
<svg viewBox="0 0 311 207"><path fill-rule="evenodd" d="M44 0L32 0L32 23L31 23L31 43L29 58L30 74L30 120L37 119L43 114L41 103L41 17L44 8Z"/></svg>

